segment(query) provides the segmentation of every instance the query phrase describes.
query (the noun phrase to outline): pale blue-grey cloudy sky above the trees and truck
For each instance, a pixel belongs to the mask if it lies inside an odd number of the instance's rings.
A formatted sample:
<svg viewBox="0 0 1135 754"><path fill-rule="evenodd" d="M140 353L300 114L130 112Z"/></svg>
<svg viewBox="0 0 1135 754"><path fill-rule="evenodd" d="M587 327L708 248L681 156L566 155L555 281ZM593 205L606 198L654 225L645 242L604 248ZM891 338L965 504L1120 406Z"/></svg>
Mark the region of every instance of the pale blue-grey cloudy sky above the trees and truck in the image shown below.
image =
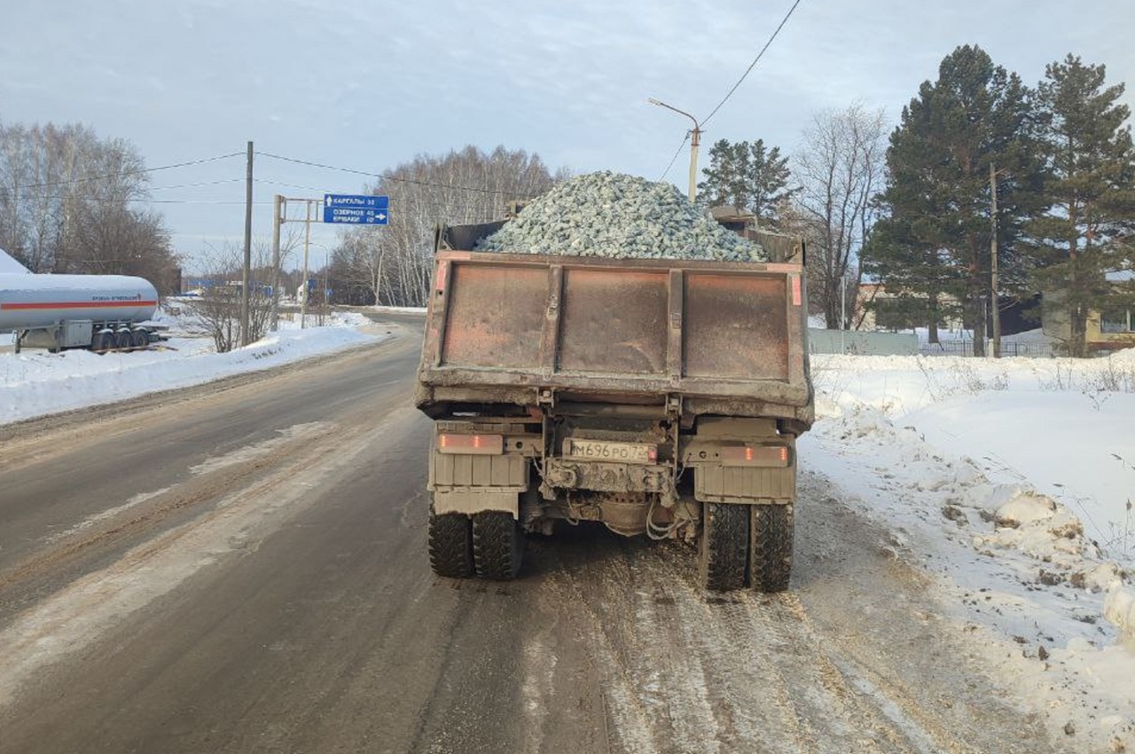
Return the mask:
<svg viewBox="0 0 1135 754"><path fill-rule="evenodd" d="M82 123L131 142L151 168L239 152L152 174L152 208L191 259L243 243L249 141L371 174L504 145L553 170L665 175L684 190L688 152L671 162L690 122L647 99L705 120L792 3L0 0L0 122ZM801 0L705 124L703 154L718 139L764 139L791 154L818 112L855 101L893 124L961 44L1029 85L1069 52L1105 64L1132 106L1133 22L1132 0ZM372 183L266 156L254 175L263 242L274 194ZM312 233L318 265L337 234Z"/></svg>

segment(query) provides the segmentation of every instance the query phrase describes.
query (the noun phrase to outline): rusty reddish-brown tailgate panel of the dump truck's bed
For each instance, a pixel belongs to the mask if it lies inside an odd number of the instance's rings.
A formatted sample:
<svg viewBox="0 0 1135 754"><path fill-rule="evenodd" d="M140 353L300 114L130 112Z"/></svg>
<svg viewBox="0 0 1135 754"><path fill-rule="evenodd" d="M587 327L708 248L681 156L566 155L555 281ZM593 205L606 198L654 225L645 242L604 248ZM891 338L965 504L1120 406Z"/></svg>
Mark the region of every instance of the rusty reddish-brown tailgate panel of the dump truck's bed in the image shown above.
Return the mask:
<svg viewBox="0 0 1135 754"><path fill-rule="evenodd" d="M420 409L556 401L812 424L798 263L439 250Z"/></svg>

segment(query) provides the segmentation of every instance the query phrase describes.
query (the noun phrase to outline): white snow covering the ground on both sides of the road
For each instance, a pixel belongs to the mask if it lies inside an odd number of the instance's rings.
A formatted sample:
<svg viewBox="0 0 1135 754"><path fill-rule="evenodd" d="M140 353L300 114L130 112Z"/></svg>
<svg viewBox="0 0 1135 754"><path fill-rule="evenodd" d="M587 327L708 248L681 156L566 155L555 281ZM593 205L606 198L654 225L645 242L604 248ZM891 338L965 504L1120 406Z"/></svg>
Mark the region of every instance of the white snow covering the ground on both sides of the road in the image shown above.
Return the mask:
<svg viewBox="0 0 1135 754"><path fill-rule="evenodd" d="M371 340L363 321L228 354L178 320L165 351L0 349L0 424L350 347ZM813 375L804 470L886 525L894 556L934 576L959 635L1071 749L1135 751L1135 351L816 355Z"/></svg>

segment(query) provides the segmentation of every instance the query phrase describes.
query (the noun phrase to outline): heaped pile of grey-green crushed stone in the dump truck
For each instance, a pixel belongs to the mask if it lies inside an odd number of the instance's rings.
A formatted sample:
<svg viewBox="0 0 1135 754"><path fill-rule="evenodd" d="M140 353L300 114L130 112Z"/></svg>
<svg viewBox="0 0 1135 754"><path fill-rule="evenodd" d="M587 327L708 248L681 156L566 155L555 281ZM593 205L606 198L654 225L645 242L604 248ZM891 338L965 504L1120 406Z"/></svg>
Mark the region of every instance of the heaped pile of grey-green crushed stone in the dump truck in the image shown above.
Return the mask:
<svg viewBox="0 0 1135 754"><path fill-rule="evenodd" d="M581 175L529 202L476 251L637 259L767 261L678 188L619 173Z"/></svg>

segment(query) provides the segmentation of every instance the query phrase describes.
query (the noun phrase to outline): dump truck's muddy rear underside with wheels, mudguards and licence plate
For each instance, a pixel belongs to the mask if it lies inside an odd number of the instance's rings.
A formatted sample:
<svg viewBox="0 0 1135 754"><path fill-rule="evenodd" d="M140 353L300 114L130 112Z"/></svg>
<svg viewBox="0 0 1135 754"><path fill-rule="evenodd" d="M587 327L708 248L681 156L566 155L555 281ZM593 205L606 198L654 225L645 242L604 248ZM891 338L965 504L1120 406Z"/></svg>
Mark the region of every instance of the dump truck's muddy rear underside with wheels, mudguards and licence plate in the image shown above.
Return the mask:
<svg viewBox="0 0 1135 754"><path fill-rule="evenodd" d="M574 409L580 411L579 407ZM704 585L788 588L796 437L770 419L563 414L435 425L430 563L440 576L510 579L526 534L598 521L697 543Z"/></svg>

